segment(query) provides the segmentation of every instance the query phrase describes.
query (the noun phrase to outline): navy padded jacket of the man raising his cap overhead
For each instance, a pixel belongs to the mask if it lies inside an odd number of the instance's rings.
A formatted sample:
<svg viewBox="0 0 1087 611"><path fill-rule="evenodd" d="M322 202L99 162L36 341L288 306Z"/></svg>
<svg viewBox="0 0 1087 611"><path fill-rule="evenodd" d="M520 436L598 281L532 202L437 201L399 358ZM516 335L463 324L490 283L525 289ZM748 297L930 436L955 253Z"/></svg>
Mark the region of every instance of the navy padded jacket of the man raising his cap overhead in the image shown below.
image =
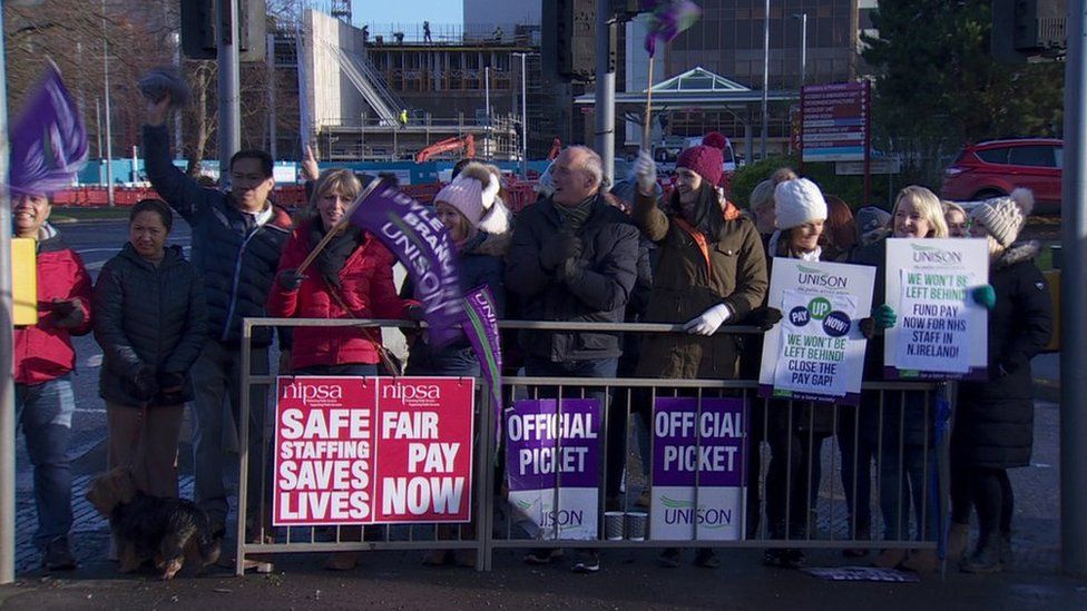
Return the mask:
<svg viewBox="0 0 1087 611"><path fill-rule="evenodd" d="M207 334L237 344L242 318L266 315L264 304L291 217L272 205L271 218L256 225L252 215L237 209L232 195L199 186L174 167L165 126L144 126L144 156L151 186L193 228L193 265L204 283ZM253 329L254 346L271 343L270 327Z"/></svg>

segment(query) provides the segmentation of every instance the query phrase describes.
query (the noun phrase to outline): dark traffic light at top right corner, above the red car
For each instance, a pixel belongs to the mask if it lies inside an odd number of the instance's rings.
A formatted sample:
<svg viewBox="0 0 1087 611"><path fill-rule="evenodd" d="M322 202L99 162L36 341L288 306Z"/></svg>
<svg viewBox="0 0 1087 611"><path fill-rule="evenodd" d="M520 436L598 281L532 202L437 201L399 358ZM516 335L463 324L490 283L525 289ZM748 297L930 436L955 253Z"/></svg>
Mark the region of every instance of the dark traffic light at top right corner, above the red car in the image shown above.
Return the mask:
<svg viewBox="0 0 1087 611"><path fill-rule="evenodd" d="M992 0L992 57L1008 63L1064 57L1067 10L1067 0Z"/></svg>

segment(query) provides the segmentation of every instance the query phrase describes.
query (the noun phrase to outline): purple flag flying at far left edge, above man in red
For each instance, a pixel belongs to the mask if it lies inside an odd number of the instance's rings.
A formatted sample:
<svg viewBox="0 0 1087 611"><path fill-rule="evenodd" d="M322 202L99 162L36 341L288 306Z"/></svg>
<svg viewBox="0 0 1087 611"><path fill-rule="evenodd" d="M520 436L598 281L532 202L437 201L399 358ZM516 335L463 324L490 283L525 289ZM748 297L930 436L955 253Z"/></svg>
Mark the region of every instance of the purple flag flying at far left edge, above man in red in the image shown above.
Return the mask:
<svg viewBox="0 0 1087 611"><path fill-rule="evenodd" d="M10 138L13 193L50 194L69 187L87 162L87 129L51 61Z"/></svg>

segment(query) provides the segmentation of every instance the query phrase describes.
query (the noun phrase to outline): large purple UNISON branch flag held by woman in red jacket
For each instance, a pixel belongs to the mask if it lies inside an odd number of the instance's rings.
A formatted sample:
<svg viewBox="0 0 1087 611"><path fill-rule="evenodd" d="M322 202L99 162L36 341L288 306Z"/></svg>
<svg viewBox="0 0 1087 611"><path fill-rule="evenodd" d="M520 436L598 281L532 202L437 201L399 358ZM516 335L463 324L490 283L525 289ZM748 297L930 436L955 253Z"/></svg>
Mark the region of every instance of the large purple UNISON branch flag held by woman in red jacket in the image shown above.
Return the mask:
<svg viewBox="0 0 1087 611"><path fill-rule="evenodd" d="M382 181L355 206L351 224L380 239L408 268L415 296L427 309L432 346L448 345L461 334L464 302L457 269L457 249L434 211Z"/></svg>

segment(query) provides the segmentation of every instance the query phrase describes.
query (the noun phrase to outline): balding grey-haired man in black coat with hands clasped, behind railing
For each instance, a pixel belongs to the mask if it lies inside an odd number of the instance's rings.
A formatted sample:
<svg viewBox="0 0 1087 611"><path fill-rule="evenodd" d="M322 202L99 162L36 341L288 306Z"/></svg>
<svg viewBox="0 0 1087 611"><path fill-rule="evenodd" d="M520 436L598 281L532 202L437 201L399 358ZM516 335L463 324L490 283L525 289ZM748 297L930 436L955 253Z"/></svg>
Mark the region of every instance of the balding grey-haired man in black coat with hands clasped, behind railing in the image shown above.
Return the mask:
<svg viewBox="0 0 1087 611"><path fill-rule="evenodd" d="M517 219L506 266L506 287L520 297L527 321L621 323L638 276L638 229L600 193L603 161L581 146L564 150L551 166L555 190ZM526 331L521 334L529 376L615 377L619 334ZM571 391L577 391L571 388ZM580 393L578 393L580 396ZM586 397L607 393L587 390ZM609 446L621 447L623 432L609 431ZM614 442L614 443L613 443ZM621 456L608 459L614 463ZM618 465L621 469L621 463ZM618 479L615 484L617 485ZM617 490L608 490L609 495ZM547 562L546 550L529 562ZM595 572L599 559L588 551L574 570Z"/></svg>

